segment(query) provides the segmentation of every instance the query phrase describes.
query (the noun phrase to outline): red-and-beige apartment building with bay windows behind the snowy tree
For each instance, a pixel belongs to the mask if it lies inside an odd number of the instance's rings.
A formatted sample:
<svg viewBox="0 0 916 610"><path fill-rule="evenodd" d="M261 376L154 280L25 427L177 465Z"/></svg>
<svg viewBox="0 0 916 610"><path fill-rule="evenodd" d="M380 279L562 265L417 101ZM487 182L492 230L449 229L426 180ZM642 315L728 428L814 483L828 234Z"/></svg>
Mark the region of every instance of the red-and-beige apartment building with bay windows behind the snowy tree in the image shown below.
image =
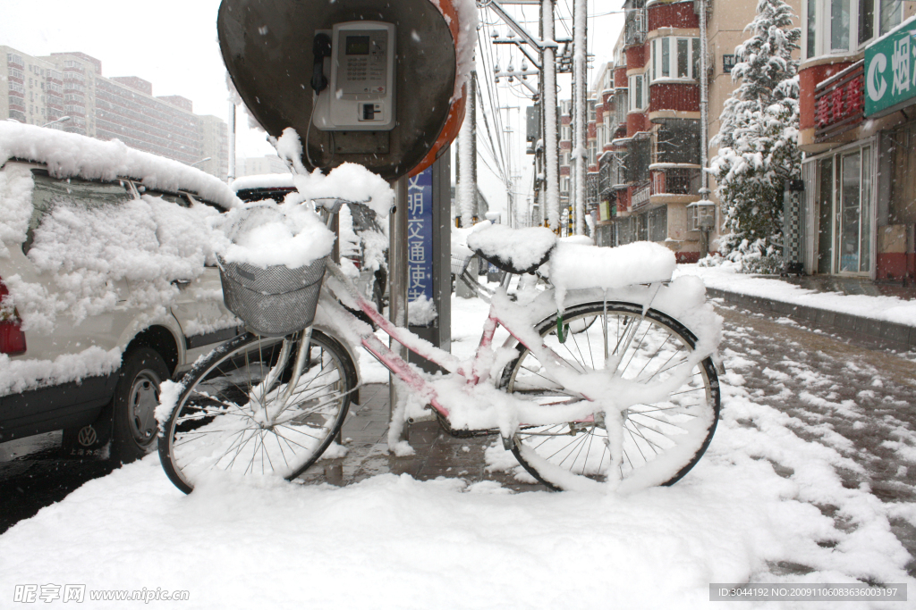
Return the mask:
<svg viewBox="0 0 916 610"><path fill-rule="evenodd" d="M797 13L798 0L789 4ZM586 211L601 245L659 241L679 261L695 262L702 237L690 207L702 186L699 4L626 0L624 9L614 60L590 86ZM757 0L709 3L710 137L735 89L735 47L747 39L756 10ZM713 245L721 220L717 214Z"/></svg>

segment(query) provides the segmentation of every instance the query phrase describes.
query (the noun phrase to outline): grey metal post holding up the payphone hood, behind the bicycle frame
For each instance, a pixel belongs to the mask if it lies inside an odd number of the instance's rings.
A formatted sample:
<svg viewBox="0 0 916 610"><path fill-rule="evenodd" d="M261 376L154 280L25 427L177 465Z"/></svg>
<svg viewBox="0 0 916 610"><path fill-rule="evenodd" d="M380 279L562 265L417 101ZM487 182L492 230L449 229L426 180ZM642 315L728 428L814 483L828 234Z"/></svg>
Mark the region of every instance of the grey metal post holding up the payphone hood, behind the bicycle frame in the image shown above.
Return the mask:
<svg viewBox="0 0 916 610"><path fill-rule="evenodd" d="M395 182L395 209L388 216L388 319L395 326L407 326L407 189L408 178L399 177ZM402 359L407 359L407 348L390 339L388 347ZM388 417L398 406L398 391L395 375L388 374ZM402 434L407 432L405 430Z"/></svg>

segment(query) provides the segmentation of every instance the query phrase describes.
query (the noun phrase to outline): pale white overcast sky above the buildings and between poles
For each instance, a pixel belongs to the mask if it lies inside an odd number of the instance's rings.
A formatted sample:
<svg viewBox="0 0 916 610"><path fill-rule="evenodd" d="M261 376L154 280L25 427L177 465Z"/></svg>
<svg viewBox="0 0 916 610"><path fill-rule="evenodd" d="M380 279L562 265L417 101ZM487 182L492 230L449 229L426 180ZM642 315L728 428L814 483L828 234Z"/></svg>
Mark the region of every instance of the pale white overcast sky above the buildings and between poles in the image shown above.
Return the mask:
<svg viewBox="0 0 916 610"><path fill-rule="evenodd" d="M589 48L594 65L610 59L611 50L623 22L619 14L623 0L587 0ZM572 14L573 0L557 0L558 16ZM220 0L156 0L136 2L113 0L42 0L29 3L0 0L0 44L17 48L28 55L82 51L102 61L102 74L137 76L153 83L154 95L181 95L191 100L194 112L228 117L228 91L225 68L216 42L216 12ZM513 7L518 13L518 6ZM527 18L537 12L526 9ZM519 13L519 17L525 18ZM485 17L493 21L493 14ZM572 30L572 22L565 25ZM537 33L537 24L527 24ZM557 24L557 36L567 32ZM501 49L501 52L502 49ZM505 51L508 52L507 50ZM518 62L517 62L518 65ZM481 75L485 78L484 75ZM568 78L559 80L564 90ZM507 114L507 124L518 137L514 147L519 180L519 198L529 190L531 157L522 148L524 107L529 104L505 87L497 88L501 105L518 105L519 112ZM561 99L569 94L562 94ZM239 112L238 156L267 155L273 152L264 134L245 127L245 113ZM483 167L485 164L481 164ZM505 206L505 188L485 167L480 172L481 188L495 208Z"/></svg>

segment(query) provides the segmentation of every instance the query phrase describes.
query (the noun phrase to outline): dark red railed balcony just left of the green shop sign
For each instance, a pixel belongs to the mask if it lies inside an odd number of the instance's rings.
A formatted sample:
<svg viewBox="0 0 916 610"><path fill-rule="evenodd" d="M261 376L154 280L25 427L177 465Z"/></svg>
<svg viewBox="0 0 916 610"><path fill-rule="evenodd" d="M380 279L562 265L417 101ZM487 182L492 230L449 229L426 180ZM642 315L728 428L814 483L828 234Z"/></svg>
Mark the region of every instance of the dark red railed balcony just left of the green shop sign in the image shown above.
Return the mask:
<svg viewBox="0 0 916 610"><path fill-rule="evenodd" d="M864 65L856 61L814 88L814 142L845 134L865 119Z"/></svg>

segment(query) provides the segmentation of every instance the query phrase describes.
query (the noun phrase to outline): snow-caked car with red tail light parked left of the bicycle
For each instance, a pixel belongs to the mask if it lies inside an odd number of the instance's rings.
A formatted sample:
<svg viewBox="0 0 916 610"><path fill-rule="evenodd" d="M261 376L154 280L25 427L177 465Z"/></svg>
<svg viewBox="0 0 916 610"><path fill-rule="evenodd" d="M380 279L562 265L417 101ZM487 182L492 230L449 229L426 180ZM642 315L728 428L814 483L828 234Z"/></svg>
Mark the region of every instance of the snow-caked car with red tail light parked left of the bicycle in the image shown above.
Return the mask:
<svg viewBox="0 0 916 610"><path fill-rule="evenodd" d="M0 123L0 442L155 449L159 382L239 333L212 239L238 204L119 141Z"/></svg>

